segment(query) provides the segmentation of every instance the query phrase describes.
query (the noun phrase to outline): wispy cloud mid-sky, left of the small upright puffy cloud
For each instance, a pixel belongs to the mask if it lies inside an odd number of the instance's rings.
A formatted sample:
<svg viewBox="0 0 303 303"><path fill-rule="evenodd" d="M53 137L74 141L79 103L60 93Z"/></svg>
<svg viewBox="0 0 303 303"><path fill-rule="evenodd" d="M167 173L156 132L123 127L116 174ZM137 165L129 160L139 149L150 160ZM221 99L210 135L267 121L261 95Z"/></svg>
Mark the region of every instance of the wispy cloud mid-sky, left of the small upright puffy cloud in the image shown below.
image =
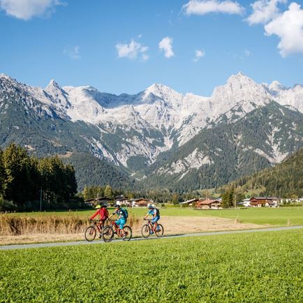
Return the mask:
<svg viewBox="0 0 303 303"><path fill-rule="evenodd" d="M135 40L131 40L129 44L117 44L116 50L118 52L118 58L137 59L140 57L142 61L149 59L149 55L146 53L148 47Z"/></svg>

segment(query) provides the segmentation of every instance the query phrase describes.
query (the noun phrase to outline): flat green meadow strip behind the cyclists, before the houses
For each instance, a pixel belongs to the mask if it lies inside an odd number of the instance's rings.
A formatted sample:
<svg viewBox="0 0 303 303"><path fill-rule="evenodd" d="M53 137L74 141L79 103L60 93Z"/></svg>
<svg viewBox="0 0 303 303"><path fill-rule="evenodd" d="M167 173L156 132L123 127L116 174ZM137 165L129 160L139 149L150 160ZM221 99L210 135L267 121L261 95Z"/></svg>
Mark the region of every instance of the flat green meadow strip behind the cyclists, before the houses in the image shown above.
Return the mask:
<svg viewBox="0 0 303 303"><path fill-rule="evenodd" d="M109 209L112 212L111 209ZM191 208L167 207L161 209L161 216L215 216L219 218L238 219L242 223L269 225L303 225L303 207L251 207L247 209L194 210ZM135 216L145 216L145 208L129 208L128 212ZM66 216L77 215L88 218L94 214L94 209L77 212L31 212L20 213L17 216Z"/></svg>

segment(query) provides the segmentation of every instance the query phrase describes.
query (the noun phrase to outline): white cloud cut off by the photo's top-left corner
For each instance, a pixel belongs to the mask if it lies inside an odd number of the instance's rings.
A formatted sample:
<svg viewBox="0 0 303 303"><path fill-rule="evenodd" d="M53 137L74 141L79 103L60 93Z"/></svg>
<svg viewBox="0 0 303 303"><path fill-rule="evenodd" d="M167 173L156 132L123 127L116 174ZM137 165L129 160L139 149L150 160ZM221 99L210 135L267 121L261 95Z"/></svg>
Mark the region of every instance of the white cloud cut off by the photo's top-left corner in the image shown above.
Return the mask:
<svg viewBox="0 0 303 303"><path fill-rule="evenodd" d="M7 15L22 20L52 13L54 6L64 5L59 0L0 0L0 9Z"/></svg>

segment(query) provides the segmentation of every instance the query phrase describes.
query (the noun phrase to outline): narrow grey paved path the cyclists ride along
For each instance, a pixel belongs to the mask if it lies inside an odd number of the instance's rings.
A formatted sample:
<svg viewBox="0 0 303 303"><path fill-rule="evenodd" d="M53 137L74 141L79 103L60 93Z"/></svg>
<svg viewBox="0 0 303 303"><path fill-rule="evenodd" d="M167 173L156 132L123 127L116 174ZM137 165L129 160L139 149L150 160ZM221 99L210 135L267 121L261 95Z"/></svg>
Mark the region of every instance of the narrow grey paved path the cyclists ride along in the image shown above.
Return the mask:
<svg viewBox="0 0 303 303"><path fill-rule="evenodd" d="M167 235L164 237L149 237L147 239L143 237L133 238L131 241L142 241L142 240L154 240L154 239L168 239L168 238L178 238L178 237L198 237L198 236L212 236L212 235L226 235L226 234L238 234L244 232L269 232L269 231L279 231L279 230L297 230L301 229L303 226L286 226L277 228L258 228L251 230L229 230L229 231L219 231L219 232L197 232L193 234L185 235ZM115 239L111 243L122 242L122 239ZM17 245L3 245L0 246L0 251L9 251L12 249L38 249L40 247L57 247L57 246L74 246L74 245L95 245L95 244L105 244L102 240L96 240L93 242L87 241L74 241L74 242L53 242L53 243L38 243L38 244L17 244Z"/></svg>

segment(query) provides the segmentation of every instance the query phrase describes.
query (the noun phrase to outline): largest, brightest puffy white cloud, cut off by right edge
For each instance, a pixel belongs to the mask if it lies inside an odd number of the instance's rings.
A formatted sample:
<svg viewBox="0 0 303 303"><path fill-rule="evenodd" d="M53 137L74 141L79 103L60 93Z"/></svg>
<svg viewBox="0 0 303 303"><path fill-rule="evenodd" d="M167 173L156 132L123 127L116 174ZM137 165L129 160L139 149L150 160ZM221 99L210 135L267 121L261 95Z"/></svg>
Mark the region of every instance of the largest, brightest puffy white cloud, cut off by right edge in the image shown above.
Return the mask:
<svg viewBox="0 0 303 303"><path fill-rule="evenodd" d="M303 52L303 10L295 2L288 10L265 25L265 35L280 38L278 49L282 57Z"/></svg>

